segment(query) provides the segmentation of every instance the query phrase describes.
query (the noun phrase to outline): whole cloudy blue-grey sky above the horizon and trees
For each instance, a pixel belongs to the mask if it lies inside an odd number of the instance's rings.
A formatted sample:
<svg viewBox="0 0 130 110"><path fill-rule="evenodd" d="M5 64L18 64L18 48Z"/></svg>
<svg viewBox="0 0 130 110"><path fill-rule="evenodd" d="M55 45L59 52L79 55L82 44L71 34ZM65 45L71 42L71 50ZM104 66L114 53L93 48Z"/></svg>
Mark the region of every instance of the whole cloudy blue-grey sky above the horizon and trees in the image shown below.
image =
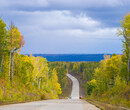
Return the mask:
<svg viewBox="0 0 130 110"><path fill-rule="evenodd" d="M122 53L130 0L0 0L0 17L24 36L22 54Z"/></svg>

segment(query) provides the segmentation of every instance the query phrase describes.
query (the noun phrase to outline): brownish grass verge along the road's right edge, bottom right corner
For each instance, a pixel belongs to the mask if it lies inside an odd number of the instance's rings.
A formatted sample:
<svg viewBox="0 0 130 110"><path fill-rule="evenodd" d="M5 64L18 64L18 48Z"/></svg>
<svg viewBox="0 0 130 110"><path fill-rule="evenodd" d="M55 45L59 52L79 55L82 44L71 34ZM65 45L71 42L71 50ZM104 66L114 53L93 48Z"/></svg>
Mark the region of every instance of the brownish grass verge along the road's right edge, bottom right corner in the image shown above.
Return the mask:
<svg viewBox="0 0 130 110"><path fill-rule="evenodd" d="M120 106L114 106L111 104L95 101L92 99L85 99L87 102L95 105L96 107L100 108L101 110L130 110L129 108L124 108Z"/></svg>

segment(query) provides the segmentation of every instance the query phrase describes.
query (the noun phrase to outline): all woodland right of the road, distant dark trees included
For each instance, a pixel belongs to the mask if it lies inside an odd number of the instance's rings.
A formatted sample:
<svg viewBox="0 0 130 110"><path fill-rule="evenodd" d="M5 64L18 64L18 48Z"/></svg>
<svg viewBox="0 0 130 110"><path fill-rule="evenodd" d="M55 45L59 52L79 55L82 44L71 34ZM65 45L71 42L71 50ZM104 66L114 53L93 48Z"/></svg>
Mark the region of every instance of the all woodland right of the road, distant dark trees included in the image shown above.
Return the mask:
<svg viewBox="0 0 130 110"><path fill-rule="evenodd" d="M130 14L121 21L123 54L113 54L100 62L70 63L69 72L77 77L88 99L130 107Z"/></svg>

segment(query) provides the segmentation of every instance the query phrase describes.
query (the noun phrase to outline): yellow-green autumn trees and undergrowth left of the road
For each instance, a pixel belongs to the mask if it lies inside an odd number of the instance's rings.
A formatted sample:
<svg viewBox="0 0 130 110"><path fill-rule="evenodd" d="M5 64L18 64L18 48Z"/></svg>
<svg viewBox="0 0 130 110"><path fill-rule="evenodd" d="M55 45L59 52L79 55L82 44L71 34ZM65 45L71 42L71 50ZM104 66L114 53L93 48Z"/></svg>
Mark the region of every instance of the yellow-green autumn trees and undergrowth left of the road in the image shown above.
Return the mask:
<svg viewBox="0 0 130 110"><path fill-rule="evenodd" d="M62 93L56 69L43 57L21 55L24 36L0 18L0 102L58 98Z"/></svg>

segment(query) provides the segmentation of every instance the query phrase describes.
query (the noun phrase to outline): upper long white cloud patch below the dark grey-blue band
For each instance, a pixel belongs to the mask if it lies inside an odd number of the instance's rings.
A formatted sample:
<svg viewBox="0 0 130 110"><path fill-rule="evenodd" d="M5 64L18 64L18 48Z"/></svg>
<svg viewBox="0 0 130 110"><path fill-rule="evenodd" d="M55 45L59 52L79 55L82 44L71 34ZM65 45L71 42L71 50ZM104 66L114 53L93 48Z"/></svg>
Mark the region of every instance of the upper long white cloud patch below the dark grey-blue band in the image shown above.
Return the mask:
<svg viewBox="0 0 130 110"><path fill-rule="evenodd" d="M70 11L13 11L12 14L26 17L24 25L27 23L30 26L39 26L42 30L83 29L91 31L101 26L99 21L93 20L85 14L73 15Z"/></svg>

